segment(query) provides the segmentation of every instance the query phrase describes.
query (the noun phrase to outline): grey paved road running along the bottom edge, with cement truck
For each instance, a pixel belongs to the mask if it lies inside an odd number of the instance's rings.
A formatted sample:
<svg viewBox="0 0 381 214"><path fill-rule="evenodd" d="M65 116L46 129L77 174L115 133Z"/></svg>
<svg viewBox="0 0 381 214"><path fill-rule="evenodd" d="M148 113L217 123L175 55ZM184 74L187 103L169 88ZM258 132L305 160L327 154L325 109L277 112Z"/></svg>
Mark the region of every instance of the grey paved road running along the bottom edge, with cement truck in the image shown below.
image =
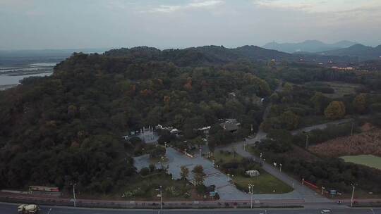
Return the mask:
<svg viewBox="0 0 381 214"><path fill-rule="evenodd" d="M253 214L253 213L267 213L267 214L317 214L320 213L322 208L255 208L255 209L211 209L211 210L123 210L123 209L102 209L102 208L68 208L57 206L42 206L41 214ZM16 214L17 204L12 203L0 203L0 214ZM332 209L333 214L381 214L381 208L336 208Z"/></svg>

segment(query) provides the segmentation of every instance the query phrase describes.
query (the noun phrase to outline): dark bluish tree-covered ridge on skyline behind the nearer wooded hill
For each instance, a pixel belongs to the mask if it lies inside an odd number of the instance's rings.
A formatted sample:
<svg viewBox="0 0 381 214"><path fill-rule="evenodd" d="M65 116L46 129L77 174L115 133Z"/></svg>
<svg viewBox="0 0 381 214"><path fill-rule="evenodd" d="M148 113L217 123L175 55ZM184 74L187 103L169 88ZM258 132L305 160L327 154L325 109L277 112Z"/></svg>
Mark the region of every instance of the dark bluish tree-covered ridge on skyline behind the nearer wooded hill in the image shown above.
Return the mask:
<svg viewBox="0 0 381 214"><path fill-rule="evenodd" d="M241 46L228 49L224 46L200 46L188 49L159 49L140 46L132 49L114 49L106 51L106 56L124 56L129 58L149 58L155 61L171 61L179 66L199 66L224 64L238 59L267 61L271 59L291 60L289 53L262 49L259 46Z"/></svg>

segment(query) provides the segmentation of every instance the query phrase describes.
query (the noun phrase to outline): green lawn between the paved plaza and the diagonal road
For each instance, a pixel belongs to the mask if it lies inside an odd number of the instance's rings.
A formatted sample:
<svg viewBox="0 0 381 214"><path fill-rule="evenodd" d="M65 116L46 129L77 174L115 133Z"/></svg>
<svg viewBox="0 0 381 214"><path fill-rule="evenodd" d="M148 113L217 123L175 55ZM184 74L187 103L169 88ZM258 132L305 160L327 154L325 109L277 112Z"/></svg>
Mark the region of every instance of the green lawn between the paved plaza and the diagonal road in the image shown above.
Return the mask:
<svg viewBox="0 0 381 214"><path fill-rule="evenodd" d="M254 184L254 194L279 194L287 193L293 189L276 177L260 170L258 177L236 176L233 179L234 184L242 191L248 191L248 184Z"/></svg>

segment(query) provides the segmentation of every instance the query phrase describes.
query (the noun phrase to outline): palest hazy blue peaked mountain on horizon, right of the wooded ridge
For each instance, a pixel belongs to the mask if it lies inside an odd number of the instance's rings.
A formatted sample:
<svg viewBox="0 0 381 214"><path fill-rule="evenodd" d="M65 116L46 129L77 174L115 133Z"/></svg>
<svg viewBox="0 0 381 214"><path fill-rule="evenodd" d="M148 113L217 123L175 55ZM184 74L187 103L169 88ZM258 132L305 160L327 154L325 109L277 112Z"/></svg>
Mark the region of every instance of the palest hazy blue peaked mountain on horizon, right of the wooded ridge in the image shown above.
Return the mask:
<svg viewBox="0 0 381 214"><path fill-rule="evenodd" d="M324 42L320 42L318 40L306 40L304 42L299 43L277 43L270 42L262 46L265 49L274 49L277 51L283 51L286 53L295 53L295 52L322 52L322 51L330 51L334 49L343 49L349 46L357 44L356 42L350 41L340 41L334 44L326 44Z"/></svg>

